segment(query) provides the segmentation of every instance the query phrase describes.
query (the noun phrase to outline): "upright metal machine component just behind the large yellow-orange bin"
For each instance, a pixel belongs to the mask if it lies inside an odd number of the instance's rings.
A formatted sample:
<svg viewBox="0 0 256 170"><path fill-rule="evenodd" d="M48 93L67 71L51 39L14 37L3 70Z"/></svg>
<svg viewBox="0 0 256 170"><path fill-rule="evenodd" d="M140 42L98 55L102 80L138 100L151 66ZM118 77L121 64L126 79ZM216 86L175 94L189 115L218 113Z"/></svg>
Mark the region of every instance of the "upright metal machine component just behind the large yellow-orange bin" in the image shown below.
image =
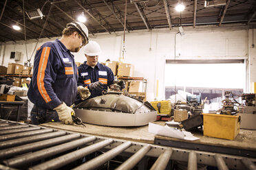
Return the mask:
<svg viewBox="0 0 256 170"><path fill-rule="evenodd" d="M237 106L235 106L233 100L229 99L229 95L231 95L231 92L226 91L225 99L222 100L222 108L219 110L220 114L233 115L237 113Z"/></svg>

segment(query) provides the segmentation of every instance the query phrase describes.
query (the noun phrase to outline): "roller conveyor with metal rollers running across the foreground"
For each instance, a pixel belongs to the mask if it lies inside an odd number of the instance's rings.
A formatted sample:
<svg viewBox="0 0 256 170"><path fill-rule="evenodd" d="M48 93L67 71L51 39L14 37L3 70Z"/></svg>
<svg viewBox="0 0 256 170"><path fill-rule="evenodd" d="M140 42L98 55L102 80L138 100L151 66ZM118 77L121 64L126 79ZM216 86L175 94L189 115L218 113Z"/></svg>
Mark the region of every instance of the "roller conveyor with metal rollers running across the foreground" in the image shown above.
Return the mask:
<svg viewBox="0 0 256 170"><path fill-rule="evenodd" d="M13 121L0 119L0 132L12 126ZM19 125L21 127L19 127ZM136 143L114 138L52 130L38 125L37 130L25 130L24 123L17 123L20 132L9 130L0 134L0 142L6 145L0 150L0 169L172 169L175 161L186 162L188 169L198 165L210 165L218 169L255 169L255 158L217 154L209 151L164 147L147 143ZM11 130L15 130L11 128ZM39 138L39 131L47 138ZM36 132L36 134L32 134ZM23 136L19 135L23 134ZM47 135L48 134L48 135ZM58 135L57 135L58 134ZM61 135L61 136L60 136ZM27 143L25 136L34 138ZM8 145L14 139L17 143ZM93 158L87 159L92 153ZM122 161L116 161L122 157ZM84 159L85 158L85 161ZM114 164L115 162L115 164ZM111 167L112 166L112 167ZM169 167L170 166L170 167Z"/></svg>

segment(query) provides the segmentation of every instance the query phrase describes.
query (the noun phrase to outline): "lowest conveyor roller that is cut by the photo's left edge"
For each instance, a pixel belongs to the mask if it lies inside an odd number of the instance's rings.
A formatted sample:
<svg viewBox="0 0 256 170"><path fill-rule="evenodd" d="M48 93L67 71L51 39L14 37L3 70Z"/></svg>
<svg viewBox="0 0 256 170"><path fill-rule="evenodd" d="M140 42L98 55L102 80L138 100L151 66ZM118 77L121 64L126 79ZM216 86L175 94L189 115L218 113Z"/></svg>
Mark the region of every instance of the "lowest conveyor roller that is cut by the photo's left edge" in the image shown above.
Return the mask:
<svg viewBox="0 0 256 170"><path fill-rule="evenodd" d="M66 132L64 132L64 131L58 131L58 132L52 132L52 133L47 133L47 134L38 134L38 135L25 137L25 138L15 138L10 141L0 142L0 149L14 147L17 145L23 145L26 143L32 143L32 142L36 142L36 141L41 141L41 140L45 140L48 138L63 136L65 134L66 134Z"/></svg>

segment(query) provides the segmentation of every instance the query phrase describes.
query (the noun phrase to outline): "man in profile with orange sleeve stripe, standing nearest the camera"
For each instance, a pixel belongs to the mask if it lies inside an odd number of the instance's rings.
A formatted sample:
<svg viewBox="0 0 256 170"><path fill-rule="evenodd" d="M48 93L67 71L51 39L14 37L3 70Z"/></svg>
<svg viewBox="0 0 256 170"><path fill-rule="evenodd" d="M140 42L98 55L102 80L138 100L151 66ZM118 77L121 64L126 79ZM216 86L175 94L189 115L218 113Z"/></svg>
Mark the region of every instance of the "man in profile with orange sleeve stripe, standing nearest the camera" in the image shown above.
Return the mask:
<svg viewBox="0 0 256 170"><path fill-rule="evenodd" d="M58 40L45 42L36 51L28 98L34 104L32 124L63 121L72 124L70 108L79 94L89 90L77 86L78 72L71 52L78 52L88 42L88 29L80 22L68 23Z"/></svg>

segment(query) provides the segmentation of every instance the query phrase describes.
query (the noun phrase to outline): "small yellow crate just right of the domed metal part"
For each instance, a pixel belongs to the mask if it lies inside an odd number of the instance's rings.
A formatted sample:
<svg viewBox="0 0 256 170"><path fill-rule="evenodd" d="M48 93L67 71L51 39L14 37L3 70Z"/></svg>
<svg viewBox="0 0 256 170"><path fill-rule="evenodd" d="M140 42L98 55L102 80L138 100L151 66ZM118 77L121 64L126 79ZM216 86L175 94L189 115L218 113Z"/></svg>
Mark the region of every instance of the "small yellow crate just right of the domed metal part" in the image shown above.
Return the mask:
<svg viewBox="0 0 256 170"><path fill-rule="evenodd" d="M171 101L151 101L151 105L158 111L158 114L171 114Z"/></svg>

